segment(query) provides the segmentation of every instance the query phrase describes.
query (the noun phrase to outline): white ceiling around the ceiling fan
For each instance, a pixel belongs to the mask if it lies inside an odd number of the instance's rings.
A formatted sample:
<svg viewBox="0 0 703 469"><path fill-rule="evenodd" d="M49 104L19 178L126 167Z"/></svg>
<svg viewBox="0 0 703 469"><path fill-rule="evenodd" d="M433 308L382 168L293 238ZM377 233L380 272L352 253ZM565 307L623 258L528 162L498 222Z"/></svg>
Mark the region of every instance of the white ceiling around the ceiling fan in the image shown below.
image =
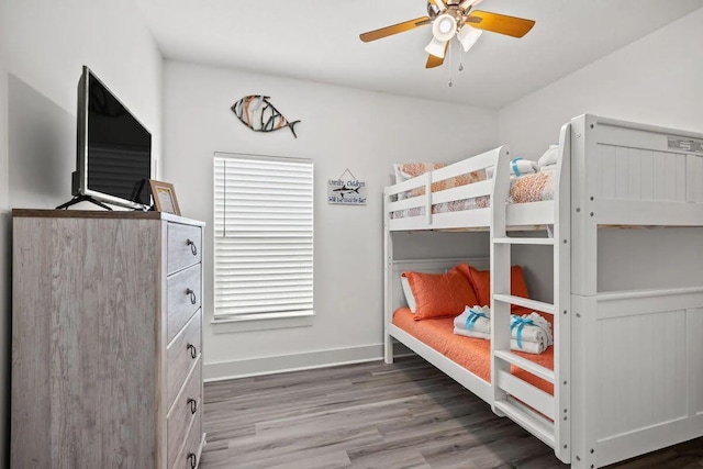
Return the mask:
<svg viewBox="0 0 703 469"><path fill-rule="evenodd" d="M425 15L425 0L135 1L166 58L495 109L703 8L703 0L484 0L477 9L535 27L521 40L486 33L427 70L429 26L359 40Z"/></svg>

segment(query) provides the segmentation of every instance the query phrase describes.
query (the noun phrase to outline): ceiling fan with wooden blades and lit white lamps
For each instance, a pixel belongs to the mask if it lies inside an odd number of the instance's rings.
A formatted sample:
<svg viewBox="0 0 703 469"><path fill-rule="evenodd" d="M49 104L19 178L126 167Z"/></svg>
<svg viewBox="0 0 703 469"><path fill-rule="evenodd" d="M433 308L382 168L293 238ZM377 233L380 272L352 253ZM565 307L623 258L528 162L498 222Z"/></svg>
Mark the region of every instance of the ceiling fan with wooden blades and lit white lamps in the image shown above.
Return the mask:
<svg viewBox="0 0 703 469"><path fill-rule="evenodd" d="M507 16L505 14L473 10L482 0L429 0L427 16L416 18L392 26L369 31L359 35L365 43L393 34L432 24L432 41L425 47L429 54L426 68L438 67L449 48L449 42L457 37L465 52L469 51L483 31L522 37L535 25L533 20Z"/></svg>

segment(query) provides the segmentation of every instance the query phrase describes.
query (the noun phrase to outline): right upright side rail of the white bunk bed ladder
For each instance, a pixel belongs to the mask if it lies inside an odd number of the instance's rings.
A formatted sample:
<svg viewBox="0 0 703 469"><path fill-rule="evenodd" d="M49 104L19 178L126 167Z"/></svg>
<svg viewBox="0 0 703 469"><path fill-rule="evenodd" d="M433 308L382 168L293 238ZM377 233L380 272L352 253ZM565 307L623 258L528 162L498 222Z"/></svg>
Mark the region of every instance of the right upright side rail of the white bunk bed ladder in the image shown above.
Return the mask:
<svg viewBox="0 0 703 469"><path fill-rule="evenodd" d="M555 454L571 461L571 124L559 132L554 220Z"/></svg>

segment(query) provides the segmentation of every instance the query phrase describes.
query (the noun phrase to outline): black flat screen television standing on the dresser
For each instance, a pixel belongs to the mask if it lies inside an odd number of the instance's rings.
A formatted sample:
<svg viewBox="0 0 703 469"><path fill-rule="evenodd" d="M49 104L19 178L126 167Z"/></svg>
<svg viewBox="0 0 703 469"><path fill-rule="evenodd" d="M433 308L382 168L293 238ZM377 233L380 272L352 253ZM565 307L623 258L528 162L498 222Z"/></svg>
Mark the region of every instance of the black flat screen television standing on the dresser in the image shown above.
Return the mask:
<svg viewBox="0 0 703 469"><path fill-rule="evenodd" d="M78 82L76 168L68 204L150 205L152 134L86 66Z"/></svg>

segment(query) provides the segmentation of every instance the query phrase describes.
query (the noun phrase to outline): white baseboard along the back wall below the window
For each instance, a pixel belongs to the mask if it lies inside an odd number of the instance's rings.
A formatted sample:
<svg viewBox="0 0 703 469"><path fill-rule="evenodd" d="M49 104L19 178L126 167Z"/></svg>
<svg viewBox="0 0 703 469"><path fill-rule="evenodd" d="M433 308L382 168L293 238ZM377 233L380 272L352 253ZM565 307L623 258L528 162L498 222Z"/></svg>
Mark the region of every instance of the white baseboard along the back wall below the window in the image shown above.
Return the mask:
<svg viewBox="0 0 703 469"><path fill-rule="evenodd" d="M395 343L394 356L401 357L410 353L410 349L405 346ZM220 361L203 365L203 381L224 381L254 376L336 367L339 365L362 364L382 359L383 344L371 344L359 347L332 348L327 350L305 351L302 354Z"/></svg>

